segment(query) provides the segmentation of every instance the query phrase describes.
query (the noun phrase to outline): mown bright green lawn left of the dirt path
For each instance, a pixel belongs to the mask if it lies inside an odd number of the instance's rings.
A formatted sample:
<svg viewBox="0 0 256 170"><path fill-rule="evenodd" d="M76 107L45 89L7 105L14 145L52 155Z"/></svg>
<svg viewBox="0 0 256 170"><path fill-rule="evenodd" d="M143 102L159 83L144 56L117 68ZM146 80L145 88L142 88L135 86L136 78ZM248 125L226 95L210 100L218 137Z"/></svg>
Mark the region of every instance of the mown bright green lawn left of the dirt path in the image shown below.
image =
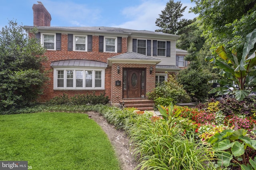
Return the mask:
<svg viewBox="0 0 256 170"><path fill-rule="evenodd" d="M0 115L0 160L34 170L120 170L107 135L81 113Z"/></svg>

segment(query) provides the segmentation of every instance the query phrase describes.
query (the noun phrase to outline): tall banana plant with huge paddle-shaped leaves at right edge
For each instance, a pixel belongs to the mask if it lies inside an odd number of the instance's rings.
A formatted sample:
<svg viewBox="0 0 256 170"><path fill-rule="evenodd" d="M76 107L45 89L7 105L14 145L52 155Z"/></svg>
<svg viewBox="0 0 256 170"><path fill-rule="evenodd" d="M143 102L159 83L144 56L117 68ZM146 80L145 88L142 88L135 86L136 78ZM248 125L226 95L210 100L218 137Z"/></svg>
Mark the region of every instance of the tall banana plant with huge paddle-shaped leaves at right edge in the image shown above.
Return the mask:
<svg viewBox="0 0 256 170"><path fill-rule="evenodd" d="M256 68L256 29L246 35L246 42L240 62L236 49L233 49L232 56L228 55L223 46L220 46L216 53L220 56L221 61L214 57L206 57L206 61L210 61L220 68L220 76L226 79L210 80L208 83L219 83L222 86L213 88L209 93L216 93L215 96L224 94L234 95L236 100L242 101L252 91L256 91L256 75L249 75ZM231 81L230 81L231 80Z"/></svg>

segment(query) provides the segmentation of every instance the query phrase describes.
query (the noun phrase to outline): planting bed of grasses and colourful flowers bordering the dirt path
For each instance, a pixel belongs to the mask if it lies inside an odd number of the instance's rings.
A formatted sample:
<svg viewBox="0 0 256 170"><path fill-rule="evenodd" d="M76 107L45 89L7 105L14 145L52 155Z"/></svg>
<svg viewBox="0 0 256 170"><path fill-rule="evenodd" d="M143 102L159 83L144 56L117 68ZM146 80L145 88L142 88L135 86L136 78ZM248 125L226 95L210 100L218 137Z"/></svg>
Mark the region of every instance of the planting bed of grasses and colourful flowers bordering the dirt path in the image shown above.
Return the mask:
<svg viewBox="0 0 256 170"><path fill-rule="evenodd" d="M251 97L245 103L242 102L243 105L233 108L231 106L235 106L237 101L232 98L225 98L225 101L211 100L198 105L198 108L161 106L158 109L162 116L136 108L120 109L103 104L37 108L100 113L116 129L126 132L139 169L253 170L250 168L254 167L255 160L255 108L248 113L248 109L243 109L243 106L254 104L254 101L255 98ZM253 108L253 105L250 107ZM223 135L219 134L227 131L226 135L237 135L238 129L243 129L241 131L245 133L238 135L235 141L230 141L228 148L216 147L219 143L220 146L227 144L225 137L222 139ZM217 141L212 140L212 137ZM241 146L244 146L244 154L238 155L234 150L240 148L240 153ZM250 157L244 160L247 155Z"/></svg>

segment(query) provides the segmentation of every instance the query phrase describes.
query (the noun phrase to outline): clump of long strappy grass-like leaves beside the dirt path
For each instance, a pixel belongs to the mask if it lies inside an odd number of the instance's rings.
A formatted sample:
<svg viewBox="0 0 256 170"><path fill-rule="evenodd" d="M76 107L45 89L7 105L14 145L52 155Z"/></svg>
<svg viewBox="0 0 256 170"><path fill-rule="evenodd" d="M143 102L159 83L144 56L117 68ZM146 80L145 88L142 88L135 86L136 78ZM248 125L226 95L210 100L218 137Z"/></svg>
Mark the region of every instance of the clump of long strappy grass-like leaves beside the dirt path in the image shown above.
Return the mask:
<svg viewBox="0 0 256 170"><path fill-rule="evenodd" d="M139 159L140 169L214 169L210 163L210 149L202 143L184 136L176 118L154 122L136 118L128 130L134 156Z"/></svg>

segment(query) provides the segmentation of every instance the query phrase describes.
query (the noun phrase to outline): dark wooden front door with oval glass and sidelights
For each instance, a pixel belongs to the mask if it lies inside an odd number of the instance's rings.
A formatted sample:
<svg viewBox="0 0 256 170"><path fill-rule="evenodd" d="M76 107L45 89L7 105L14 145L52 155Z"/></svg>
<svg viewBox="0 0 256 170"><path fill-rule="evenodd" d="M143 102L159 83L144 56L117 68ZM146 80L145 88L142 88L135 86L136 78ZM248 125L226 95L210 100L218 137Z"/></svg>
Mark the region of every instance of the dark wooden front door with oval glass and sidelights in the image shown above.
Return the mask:
<svg viewBox="0 0 256 170"><path fill-rule="evenodd" d="M142 98L145 92L145 69L124 69L123 98Z"/></svg>

